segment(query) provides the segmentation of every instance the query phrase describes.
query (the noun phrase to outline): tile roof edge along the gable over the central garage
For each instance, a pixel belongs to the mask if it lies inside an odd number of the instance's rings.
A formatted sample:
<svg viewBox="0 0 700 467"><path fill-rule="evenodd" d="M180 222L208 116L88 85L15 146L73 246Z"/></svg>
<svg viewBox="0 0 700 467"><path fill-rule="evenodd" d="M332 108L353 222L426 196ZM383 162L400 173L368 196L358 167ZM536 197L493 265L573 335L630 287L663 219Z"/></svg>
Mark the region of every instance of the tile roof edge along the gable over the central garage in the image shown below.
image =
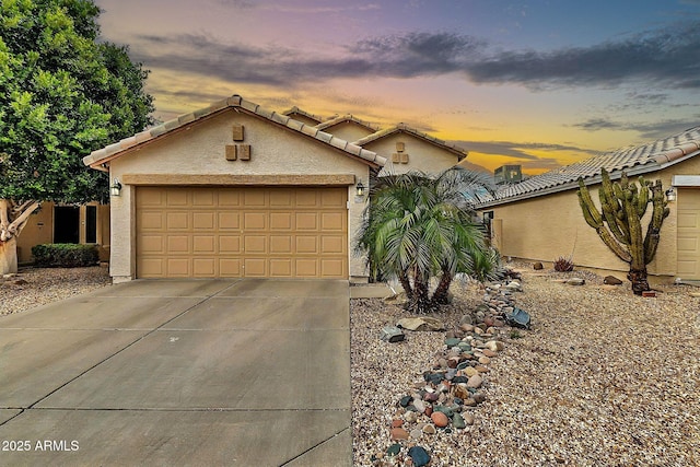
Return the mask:
<svg viewBox="0 0 700 467"><path fill-rule="evenodd" d="M103 164L108 163L113 159L118 157L129 152L130 150L136 149L137 147L150 143L154 140L160 140L174 130L186 128L190 124L206 119L229 108L235 108L238 112L246 112L250 115L287 127L293 131L298 131L305 137L313 138L332 148L337 148L346 152L349 156L361 159L372 166L381 167L386 164L385 157L372 151L368 151L366 149L363 149L358 144L353 144L340 138L336 138L332 135L320 131L318 128L294 120L287 115L278 114L273 110L262 108L250 101L244 100L237 94L218 101L211 104L209 107L200 108L189 114L180 115L177 118L165 121L164 124L150 128L145 131L141 131L140 133L137 133L132 137L125 138L121 141L110 144L106 148L93 151L90 155L83 157L83 163L85 165L90 165L93 168L103 170Z"/></svg>

